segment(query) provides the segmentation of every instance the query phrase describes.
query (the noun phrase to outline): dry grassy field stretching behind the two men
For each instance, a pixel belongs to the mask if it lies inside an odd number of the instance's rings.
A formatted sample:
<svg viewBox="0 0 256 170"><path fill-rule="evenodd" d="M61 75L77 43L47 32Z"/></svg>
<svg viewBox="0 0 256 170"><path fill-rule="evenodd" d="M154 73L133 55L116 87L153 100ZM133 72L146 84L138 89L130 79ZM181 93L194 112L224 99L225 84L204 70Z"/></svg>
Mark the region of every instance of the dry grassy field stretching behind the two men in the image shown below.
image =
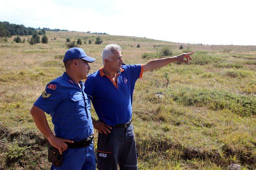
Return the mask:
<svg viewBox="0 0 256 170"><path fill-rule="evenodd" d="M66 38L92 40L80 45L97 59L91 72L102 66L100 54L110 43L122 47L126 64L146 63L164 45L173 55L182 53L180 43L147 38L99 35L103 43L96 45L95 34L46 35L48 44L15 43L14 37L0 42L0 169L49 169L47 140L29 111L46 84L64 72ZM139 169L227 169L232 162L256 169L256 46L183 46L196 51L191 64L145 72L136 83L133 124ZM92 115L96 117L94 109Z"/></svg>

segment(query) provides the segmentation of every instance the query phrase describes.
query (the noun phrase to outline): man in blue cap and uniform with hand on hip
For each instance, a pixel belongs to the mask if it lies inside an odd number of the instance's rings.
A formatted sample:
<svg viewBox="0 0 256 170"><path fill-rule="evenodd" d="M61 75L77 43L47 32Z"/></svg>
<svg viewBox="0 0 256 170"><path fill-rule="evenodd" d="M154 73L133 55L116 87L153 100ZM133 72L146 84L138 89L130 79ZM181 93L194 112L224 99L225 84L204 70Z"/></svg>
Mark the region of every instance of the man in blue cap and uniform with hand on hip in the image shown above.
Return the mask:
<svg viewBox="0 0 256 170"><path fill-rule="evenodd" d="M52 170L96 169L90 100L81 81L88 76L88 63L94 61L83 49L69 49L63 60L66 72L46 85L30 111L38 129L63 155L62 165L53 164ZM52 117L55 135L44 112Z"/></svg>

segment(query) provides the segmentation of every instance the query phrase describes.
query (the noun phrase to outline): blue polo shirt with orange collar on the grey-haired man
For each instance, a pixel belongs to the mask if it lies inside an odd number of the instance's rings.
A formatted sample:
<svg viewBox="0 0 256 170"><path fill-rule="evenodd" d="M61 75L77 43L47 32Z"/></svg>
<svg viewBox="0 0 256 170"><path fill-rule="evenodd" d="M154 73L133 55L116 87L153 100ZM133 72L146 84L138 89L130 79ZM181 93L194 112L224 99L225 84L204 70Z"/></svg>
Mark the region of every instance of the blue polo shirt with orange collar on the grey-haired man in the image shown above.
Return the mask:
<svg viewBox="0 0 256 170"><path fill-rule="evenodd" d="M117 83L100 70L85 81L85 92L92 100L98 118L107 125L124 124L132 118L135 82L142 78L143 65L124 65L117 72Z"/></svg>

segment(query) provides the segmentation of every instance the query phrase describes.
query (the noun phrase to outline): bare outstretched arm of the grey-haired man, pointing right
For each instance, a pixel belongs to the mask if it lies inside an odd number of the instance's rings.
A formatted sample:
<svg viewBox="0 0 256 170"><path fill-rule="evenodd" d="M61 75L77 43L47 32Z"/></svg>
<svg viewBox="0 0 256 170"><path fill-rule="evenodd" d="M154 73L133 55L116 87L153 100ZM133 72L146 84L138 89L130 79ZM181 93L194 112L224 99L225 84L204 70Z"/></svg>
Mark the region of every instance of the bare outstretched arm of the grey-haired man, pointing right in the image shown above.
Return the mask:
<svg viewBox="0 0 256 170"><path fill-rule="evenodd" d="M183 54L178 55L178 56L151 60L148 63L143 64L144 65L144 72L148 71L148 70L154 70L154 69L157 69L157 68L161 68L161 67L166 66L167 64L173 63L175 61L182 62L182 63L189 63L189 60L193 60L190 55L192 55L194 53L195 53L195 51L192 51L190 53L183 53ZM186 59L186 60L184 60L184 59Z"/></svg>

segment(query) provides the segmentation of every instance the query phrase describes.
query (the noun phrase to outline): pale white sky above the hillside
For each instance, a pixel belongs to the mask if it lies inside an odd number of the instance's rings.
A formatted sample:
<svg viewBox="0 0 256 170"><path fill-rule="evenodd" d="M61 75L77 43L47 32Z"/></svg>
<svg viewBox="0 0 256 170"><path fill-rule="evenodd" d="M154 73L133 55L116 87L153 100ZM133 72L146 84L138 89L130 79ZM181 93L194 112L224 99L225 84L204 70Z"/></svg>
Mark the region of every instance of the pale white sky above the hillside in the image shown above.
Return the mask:
<svg viewBox="0 0 256 170"><path fill-rule="evenodd" d="M255 0L0 0L0 21L179 43L256 45Z"/></svg>

